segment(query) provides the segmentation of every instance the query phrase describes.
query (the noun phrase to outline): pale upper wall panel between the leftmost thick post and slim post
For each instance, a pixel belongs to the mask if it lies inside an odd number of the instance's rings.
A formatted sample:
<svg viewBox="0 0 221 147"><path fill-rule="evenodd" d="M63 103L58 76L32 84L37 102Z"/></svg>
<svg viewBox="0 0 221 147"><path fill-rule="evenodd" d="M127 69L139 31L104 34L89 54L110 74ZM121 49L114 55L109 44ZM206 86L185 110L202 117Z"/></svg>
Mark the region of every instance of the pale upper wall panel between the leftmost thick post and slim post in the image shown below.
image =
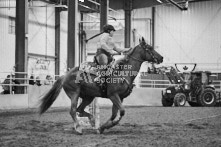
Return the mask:
<svg viewBox="0 0 221 147"><path fill-rule="evenodd" d="M43 2L32 5L44 6ZM29 9L29 53L55 55L55 8L33 7Z"/></svg>

